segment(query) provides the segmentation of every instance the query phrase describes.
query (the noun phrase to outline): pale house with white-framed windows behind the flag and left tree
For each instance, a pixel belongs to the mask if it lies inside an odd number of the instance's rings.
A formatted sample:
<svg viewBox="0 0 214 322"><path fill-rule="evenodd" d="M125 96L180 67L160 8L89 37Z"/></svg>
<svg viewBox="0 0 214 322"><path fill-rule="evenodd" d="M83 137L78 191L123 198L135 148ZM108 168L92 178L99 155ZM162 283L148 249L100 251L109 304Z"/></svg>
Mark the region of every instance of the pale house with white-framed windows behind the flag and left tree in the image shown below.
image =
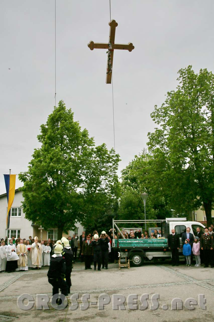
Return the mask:
<svg viewBox="0 0 214 322"><path fill-rule="evenodd" d="M8 230L8 238L14 236L15 238L21 237L28 239L29 236L38 236L40 240L40 230L39 226L35 225L31 221L25 219L25 215L22 209L22 192L18 189L15 190L15 197L13 200L13 205L11 208L10 216L10 227ZM6 215L7 215L7 195L0 195L0 238L5 238L6 236ZM63 236L68 237L69 235L73 236L74 233L77 233L78 236L82 234L84 230L83 226L80 223L76 224L76 230L69 231L69 234L64 234ZM48 231L42 231L42 240L47 241L50 238L52 241L58 240L58 229L50 227Z"/></svg>

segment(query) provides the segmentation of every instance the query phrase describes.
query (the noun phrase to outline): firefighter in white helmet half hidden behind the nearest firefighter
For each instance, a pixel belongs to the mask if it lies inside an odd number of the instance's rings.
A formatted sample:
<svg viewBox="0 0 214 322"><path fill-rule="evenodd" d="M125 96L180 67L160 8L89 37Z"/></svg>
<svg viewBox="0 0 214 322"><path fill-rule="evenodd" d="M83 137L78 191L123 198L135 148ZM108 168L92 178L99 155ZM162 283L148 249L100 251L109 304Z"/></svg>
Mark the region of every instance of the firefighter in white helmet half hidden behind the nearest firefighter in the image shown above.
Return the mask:
<svg viewBox="0 0 214 322"><path fill-rule="evenodd" d="M66 262L66 284L67 284L67 292L70 293L71 288L71 272L72 272L72 263L73 263L73 251L71 250L69 241L67 238L62 237L61 239L63 245L63 256L65 257Z"/></svg>

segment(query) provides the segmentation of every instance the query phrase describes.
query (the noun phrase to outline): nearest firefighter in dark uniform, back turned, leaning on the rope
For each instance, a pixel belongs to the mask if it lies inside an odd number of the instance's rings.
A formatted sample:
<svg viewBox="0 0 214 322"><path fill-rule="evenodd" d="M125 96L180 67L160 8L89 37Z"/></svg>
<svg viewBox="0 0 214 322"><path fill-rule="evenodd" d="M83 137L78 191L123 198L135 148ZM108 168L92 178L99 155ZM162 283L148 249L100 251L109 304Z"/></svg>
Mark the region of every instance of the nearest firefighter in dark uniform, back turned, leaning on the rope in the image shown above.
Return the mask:
<svg viewBox="0 0 214 322"><path fill-rule="evenodd" d="M55 247L55 253L50 258L50 266L48 270L48 281L52 285L52 294L59 294L59 289L61 289L61 294L67 296L67 284L64 280L66 273L65 259L62 256L63 247L58 244ZM61 300L61 302L60 302ZM61 304L62 299L57 299L57 303Z"/></svg>

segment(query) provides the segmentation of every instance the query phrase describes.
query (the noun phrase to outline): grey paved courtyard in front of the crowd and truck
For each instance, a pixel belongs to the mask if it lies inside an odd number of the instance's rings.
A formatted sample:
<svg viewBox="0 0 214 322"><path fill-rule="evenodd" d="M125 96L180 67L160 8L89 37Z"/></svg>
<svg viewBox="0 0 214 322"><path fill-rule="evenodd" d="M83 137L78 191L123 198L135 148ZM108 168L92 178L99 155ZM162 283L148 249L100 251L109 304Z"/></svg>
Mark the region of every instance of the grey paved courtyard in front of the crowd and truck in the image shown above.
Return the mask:
<svg viewBox="0 0 214 322"><path fill-rule="evenodd" d="M186 268L184 265L172 267L171 265L145 263L144 266L130 269L118 269L118 264L109 264L108 270L84 270L83 263L74 264L72 272L71 294L79 294L79 308L76 310L37 310L36 305L31 310L24 311L17 306L17 298L23 293L28 293L36 298L36 294L52 295L51 285L47 279L47 268L29 270L27 272L1 273L0 274L0 321L214 321L214 269L211 268ZM89 308L85 311L80 306L82 294L90 294ZM98 296L106 293L111 298L111 303L98 310ZM159 308L151 310L132 310L128 307L129 294L149 294L148 304L151 304L153 294L159 294ZM112 309L112 295L125 296L126 310ZM194 310L188 310L183 305L183 310L172 310L171 300L181 298L195 298L198 302L199 294L206 298L206 310L199 305ZM25 302L24 302L25 303ZM49 304L50 306L50 304ZM168 310L162 308L168 306ZM51 306L50 306L51 308Z"/></svg>

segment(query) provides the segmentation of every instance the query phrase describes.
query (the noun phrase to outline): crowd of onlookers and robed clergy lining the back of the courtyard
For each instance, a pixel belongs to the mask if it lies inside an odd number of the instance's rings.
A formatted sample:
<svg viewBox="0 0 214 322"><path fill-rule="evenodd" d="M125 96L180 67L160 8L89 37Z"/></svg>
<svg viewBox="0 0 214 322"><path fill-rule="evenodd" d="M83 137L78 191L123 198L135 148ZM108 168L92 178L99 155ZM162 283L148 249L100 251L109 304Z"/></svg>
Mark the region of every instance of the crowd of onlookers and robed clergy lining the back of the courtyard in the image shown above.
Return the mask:
<svg viewBox="0 0 214 322"><path fill-rule="evenodd" d="M181 247L179 235L172 230L172 234L168 236L168 247L172 253L172 265L178 266L179 249L182 248L186 267L191 266L193 255L196 267L200 267L202 262L204 262L204 267L208 267L209 264L214 267L213 234L213 225L206 227L204 233L201 233L201 229L198 227L195 236L190 232L190 228L187 227L186 232L182 233ZM130 229L129 232L121 231L121 233L117 233L116 230L113 232L111 228L108 233L102 231L100 235L96 230L89 234L85 234L85 231L83 231L80 237L77 234L74 234L73 237L68 236L67 241L72 251L72 266L77 259L79 241L79 260L85 262L85 270L92 269L92 264L94 264L94 270L101 270L101 266L102 269L108 269L108 263L118 259L118 250L112 248L113 238L154 239L161 237L161 230L156 229L149 235L146 230L144 233L140 229L136 231ZM0 244L0 272L26 271L49 266L56 245L51 242L50 238L47 242L41 241L41 243L39 243L38 237L32 239L31 236L27 240L20 237L15 239L14 236L9 241L7 241L7 238L5 240L2 238Z"/></svg>

